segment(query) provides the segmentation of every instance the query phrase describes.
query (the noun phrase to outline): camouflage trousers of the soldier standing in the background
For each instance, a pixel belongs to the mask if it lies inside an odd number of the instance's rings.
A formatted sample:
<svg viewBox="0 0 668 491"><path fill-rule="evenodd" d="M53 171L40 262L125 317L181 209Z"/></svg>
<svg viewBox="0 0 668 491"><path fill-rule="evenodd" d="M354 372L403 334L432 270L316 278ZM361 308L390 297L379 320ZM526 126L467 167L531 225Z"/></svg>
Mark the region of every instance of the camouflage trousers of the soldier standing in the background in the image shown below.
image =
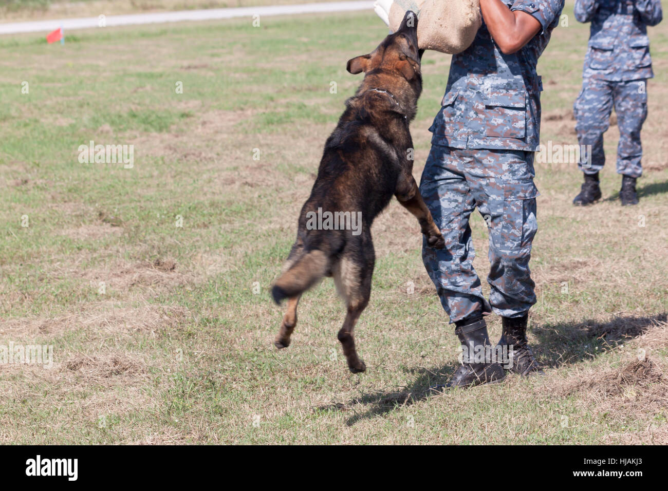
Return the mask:
<svg viewBox="0 0 668 491"><path fill-rule="evenodd" d="M647 80L607 81L585 78L582 91L575 100L575 130L580 145L591 145L591 160L578 166L585 174L595 174L605 164L603 134L610 124L615 106L619 144L617 145L617 172L625 176L643 174L641 158L643 147L640 130L647 118ZM585 160L585 159L581 159Z"/></svg>

